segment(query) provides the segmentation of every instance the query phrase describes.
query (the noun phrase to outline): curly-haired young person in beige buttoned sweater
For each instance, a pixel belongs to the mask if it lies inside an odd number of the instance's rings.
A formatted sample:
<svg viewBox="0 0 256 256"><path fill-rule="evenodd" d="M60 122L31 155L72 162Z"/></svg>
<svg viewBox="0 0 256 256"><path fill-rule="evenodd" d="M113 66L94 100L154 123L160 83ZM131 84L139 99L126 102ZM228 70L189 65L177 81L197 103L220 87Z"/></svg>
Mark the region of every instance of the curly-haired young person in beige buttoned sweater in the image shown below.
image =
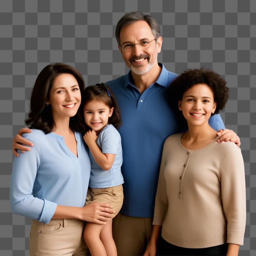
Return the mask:
<svg viewBox="0 0 256 256"><path fill-rule="evenodd" d="M171 83L168 100L188 130L164 143L144 255L236 256L246 224L243 158L236 144L218 143L208 123L225 107L226 81L210 70L189 69Z"/></svg>

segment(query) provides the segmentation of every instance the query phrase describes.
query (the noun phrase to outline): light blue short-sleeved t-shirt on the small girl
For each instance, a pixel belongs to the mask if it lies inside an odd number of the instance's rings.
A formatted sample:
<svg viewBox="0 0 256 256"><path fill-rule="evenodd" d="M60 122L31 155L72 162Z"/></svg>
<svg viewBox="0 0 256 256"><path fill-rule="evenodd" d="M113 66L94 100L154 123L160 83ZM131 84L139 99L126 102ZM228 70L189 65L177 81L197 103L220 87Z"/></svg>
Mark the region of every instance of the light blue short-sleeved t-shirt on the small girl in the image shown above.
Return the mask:
<svg viewBox="0 0 256 256"><path fill-rule="evenodd" d="M102 153L115 154L112 167L108 171L104 171L94 160L91 152L91 176L89 187L106 188L118 186L124 183L121 173L121 165L123 163L121 136L112 124L106 125L96 139L96 143Z"/></svg>

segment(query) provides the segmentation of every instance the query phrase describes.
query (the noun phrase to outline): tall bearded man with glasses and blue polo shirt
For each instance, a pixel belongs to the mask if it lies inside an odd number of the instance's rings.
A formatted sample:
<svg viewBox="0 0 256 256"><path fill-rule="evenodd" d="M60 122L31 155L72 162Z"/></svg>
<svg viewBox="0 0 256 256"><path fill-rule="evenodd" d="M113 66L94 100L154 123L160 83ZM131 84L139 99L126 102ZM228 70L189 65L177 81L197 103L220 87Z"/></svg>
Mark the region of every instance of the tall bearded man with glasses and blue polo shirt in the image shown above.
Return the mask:
<svg viewBox="0 0 256 256"><path fill-rule="evenodd" d="M118 255L143 255L152 233L163 144L169 135L185 127L178 126L165 99L166 88L177 74L157 62L162 37L156 20L141 12L127 13L119 20L115 35L130 72L107 82L122 116L119 133L123 149L124 202L113 220L113 238ZM220 115L212 116L209 123L216 131L225 128ZM221 140L231 139L240 145L233 131L224 130L222 134ZM14 138L14 149L20 148L17 144L20 138L20 135Z"/></svg>

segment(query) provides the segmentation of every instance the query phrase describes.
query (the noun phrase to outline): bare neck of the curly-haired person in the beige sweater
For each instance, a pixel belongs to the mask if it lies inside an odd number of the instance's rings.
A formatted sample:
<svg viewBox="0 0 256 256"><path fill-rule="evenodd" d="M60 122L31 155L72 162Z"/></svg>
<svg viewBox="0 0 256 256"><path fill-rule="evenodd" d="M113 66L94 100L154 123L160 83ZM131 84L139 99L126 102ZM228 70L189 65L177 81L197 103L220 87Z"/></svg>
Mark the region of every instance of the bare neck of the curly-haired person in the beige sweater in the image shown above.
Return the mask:
<svg viewBox="0 0 256 256"><path fill-rule="evenodd" d="M191 143L214 139L217 132L211 128L208 122L200 126L191 125L188 123L188 131L185 134L187 141Z"/></svg>

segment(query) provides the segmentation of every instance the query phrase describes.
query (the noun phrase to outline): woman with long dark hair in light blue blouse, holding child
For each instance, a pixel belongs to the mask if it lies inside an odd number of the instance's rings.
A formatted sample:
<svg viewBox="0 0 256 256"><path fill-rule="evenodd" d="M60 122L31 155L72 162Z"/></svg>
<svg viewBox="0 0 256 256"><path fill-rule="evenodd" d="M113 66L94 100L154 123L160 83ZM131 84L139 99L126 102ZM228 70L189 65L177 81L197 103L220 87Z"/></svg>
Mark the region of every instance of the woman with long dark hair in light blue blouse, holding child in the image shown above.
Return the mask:
<svg viewBox="0 0 256 256"><path fill-rule="evenodd" d="M14 158L10 204L14 213L33 219L30 255L89 255L82 239L84 221L105 224L112 217L105 203L84 206L90 177L88 148L81 132L84 81L65 63L46 66L38 75L23 137L33 141Z"/></svg>

